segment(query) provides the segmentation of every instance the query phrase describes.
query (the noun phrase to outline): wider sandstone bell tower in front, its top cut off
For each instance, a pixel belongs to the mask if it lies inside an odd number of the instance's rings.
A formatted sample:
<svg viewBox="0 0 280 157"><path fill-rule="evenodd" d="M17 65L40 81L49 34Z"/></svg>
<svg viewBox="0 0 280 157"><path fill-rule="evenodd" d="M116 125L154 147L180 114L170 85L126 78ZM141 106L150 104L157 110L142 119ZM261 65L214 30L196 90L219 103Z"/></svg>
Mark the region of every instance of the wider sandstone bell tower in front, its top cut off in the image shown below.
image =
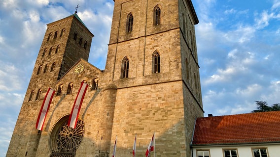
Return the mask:
<svg viewBox="0 0 280 157"><path fill-rule="evenodd" d="M203 116L191 0L114 0L105 75L117 86L111 150L129 157L137 134L144 154L153 132L160 157L190 157ZM153 155L152 155L153 156Z"/></svg>

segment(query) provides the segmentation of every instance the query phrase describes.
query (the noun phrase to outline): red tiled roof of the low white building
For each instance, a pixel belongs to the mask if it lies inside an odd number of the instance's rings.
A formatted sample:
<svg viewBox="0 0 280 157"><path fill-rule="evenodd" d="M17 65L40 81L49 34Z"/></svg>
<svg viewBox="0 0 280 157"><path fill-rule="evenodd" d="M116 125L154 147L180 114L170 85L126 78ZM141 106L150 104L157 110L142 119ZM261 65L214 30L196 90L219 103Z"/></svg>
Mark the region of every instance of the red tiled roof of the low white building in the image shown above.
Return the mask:
<svg viewBox="0 0 280 157"><path fill-rule="evenodd" d="M197 118L191 145L280 142L280 111Z"/></svg>

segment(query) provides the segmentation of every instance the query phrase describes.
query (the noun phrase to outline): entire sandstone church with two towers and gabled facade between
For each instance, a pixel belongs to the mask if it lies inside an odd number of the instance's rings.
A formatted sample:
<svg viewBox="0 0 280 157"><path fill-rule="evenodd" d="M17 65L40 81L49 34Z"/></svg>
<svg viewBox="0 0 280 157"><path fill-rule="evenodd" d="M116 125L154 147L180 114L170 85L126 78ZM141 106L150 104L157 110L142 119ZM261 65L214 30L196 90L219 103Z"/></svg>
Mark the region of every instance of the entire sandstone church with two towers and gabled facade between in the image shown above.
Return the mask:
<svg viewBox="0 0 280 157"><path fill-rule="evenodd" d="M131 157L136 134L137 156L144 157L153 133L152 156L191 157L195 119L204 112L192 2L114 3L105 70L87 62L93 35L76 14L48 24L7 157L109 157L116 135L117 156ZM44 72L53 62L55 68ZM91 87L73 130L65 124L81 81ZM38 132L48 87L58 94Z"/></svg>

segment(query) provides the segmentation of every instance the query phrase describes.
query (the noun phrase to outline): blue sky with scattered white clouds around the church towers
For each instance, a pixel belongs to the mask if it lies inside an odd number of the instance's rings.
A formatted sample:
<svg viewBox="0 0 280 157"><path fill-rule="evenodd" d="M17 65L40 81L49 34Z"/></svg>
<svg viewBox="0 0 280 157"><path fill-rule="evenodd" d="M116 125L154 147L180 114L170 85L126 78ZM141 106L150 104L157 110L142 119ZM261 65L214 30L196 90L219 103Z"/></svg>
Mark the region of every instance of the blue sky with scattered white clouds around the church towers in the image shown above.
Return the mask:
<svg viewBox="0 0 280 157"><path fill-rule="evenodd" d="M280 0L192 0L205 115L280 103ZM72 14L95 35L89 62L105 68L113 0L0 0L0 157L4 157L46 24Z"/></svg>

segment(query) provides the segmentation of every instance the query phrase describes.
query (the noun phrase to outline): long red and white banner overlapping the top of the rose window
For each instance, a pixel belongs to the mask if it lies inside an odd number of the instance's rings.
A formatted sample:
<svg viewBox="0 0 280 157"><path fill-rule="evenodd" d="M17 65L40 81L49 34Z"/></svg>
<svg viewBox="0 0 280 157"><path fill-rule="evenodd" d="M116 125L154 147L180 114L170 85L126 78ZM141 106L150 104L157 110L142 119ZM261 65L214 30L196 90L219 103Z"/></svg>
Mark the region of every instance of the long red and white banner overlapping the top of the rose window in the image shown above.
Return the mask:
<svg viewBox="0 0 280 157"><path fill-rule="evenodd" d="M84 81L81 82L80 89L78 91L78 94L76 96L74 105L72 107L72 111L68 120L68 126L71 128L76 128L79 112L87 91L88 84L86 84Z"/></svg>

